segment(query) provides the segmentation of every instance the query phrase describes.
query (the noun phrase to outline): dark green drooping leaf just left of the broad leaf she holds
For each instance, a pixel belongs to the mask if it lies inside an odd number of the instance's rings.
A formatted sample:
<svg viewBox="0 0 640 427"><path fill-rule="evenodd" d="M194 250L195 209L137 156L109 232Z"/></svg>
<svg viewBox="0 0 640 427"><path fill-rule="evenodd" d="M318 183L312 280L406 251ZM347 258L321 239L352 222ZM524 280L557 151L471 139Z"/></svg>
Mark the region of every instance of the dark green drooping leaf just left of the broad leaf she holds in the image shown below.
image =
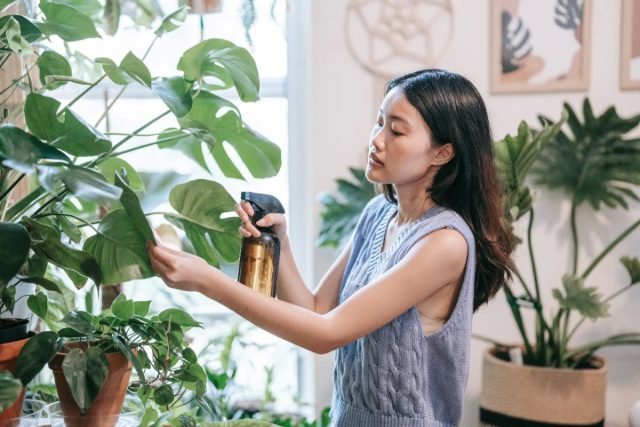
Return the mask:
<svg viewBox="0 0 640 427"><path fill-rule="evenodd" d="M33 251L53 264L74 270L100 283L100 268L91 254L66 246L53 228L30 218L24 219L32 240Z"/></svg>

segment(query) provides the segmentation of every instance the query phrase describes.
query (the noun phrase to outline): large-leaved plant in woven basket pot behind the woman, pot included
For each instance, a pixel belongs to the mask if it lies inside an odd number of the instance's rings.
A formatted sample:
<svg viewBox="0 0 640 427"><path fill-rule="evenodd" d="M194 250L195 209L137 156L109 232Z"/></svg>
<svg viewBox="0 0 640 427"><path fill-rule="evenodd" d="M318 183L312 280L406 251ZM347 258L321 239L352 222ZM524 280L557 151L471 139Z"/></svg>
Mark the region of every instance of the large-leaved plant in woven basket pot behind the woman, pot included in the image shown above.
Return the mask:
<svg viewBox="0 0 640 427"><path fill-rule="evenodd" d="M563 130L565 120L570 132ZM494 347L484 353L480 419L497 425L603 425L607 366L595 353L606 346L638 345L640 331L580 345L573 345L572 338L585 320L608 317L609 302L640 283L638 258L625 256L620 262L628 273L628 282L618 291L605 297L588 285L590 273L640 226L640 219L629 224L581 270L576 212L583 205L592 211L603 205L626 209L630 201L638 200L640 140L627 139L625 134L640 123L640 115L624 119L611 107L595 116L585 99L583 121L568 104L560 121L554 123L542 116L540 121L545 126L542 131L533 131L522 122L516 135L507 135L496 144L505 216L512 227L520 220L528 221L527 235L516 239L527 243L533 277L530 280L516 272L518 285L504 287L522 344L510 346L488 339ZM552 311L540 290L539 267L531 244L535 210L530 185L559 190L571 203L568 226L573 264L559 280L562 286L552 289L558 304ZM535 316L533 334L525 328L526 310Z"/></svg>

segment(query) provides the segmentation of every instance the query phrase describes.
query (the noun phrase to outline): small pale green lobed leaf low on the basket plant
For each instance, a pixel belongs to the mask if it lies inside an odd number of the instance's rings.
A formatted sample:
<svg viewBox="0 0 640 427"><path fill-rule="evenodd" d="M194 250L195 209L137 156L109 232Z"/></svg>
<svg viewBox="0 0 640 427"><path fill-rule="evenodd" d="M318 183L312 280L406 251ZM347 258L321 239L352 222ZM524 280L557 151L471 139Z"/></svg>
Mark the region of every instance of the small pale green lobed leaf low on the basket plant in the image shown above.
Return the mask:
<svg viewBox="0 0 640 427"><path fill-rule="evenodd" d="M564 294L559 289L552 291L553 297L560 302L561 308L577 310L592 320L609 315L609 304L602 301L602 295L597 293L597 288L585 287L583 279L565 274L562 277L562 285Z"/></svg>

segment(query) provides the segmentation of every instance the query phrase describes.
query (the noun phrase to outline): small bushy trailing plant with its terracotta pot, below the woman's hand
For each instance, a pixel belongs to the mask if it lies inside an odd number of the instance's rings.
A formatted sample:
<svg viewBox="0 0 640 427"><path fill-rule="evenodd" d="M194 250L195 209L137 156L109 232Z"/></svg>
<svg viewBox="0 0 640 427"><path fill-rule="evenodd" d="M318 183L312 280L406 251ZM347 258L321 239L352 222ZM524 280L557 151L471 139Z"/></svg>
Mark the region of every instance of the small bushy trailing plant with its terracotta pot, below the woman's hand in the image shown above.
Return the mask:
<svg viewBox="0 0 640 427"><path fill-rule="evenodd" d="M121 294L104 313L74 310L62 320L58 334L67 340L49 367L66 425L115 425L129 387L161 408L187 391L204 394L205 372L185 339L200 323L177 308L148 316L150 304ZM130 386L132 367L137 380Z"/></svg>

